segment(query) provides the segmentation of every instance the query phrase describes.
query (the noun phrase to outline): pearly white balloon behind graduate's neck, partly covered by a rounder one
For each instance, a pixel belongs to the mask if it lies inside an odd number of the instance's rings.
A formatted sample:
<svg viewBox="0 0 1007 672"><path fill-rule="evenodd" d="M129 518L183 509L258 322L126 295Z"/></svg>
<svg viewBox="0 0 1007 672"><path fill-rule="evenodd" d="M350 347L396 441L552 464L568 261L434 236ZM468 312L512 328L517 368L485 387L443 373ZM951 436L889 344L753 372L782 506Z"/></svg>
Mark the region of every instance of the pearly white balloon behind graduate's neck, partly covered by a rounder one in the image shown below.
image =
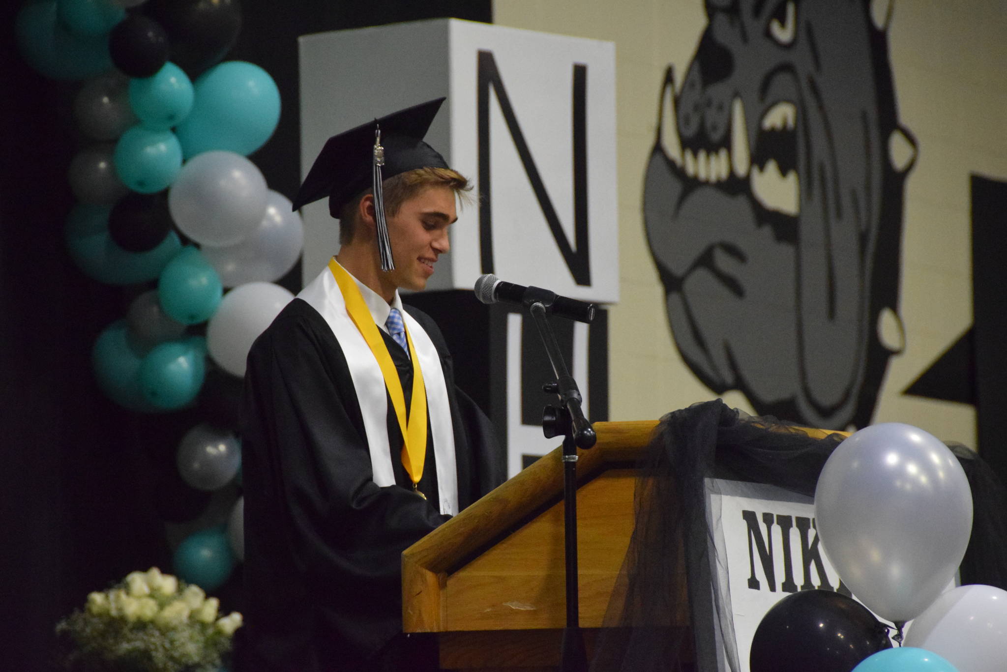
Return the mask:
<svg viewBox="0 0 1007 672"><path fill-rule="evenodd" d="M243 241L202 248L202 256L217 269L225 287L275 282L290 272L304 248L301 216L290 206L289 198L270 189L265 217Z"/></svg>

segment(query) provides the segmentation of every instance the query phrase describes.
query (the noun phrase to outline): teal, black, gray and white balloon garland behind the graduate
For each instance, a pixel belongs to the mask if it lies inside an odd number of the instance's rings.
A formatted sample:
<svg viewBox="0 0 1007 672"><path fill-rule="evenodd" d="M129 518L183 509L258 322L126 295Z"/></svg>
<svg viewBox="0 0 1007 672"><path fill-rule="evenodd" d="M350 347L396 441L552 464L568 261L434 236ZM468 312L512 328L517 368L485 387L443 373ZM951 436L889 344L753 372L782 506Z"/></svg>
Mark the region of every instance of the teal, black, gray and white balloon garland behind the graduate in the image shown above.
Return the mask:
<svg viewBox="0 0 1007 672"><path fill-rule="evenodd" d="M248 158L280 95L262 68L224 59L241 25L238 0L41 0L15 24L34 70L80 83L64 240L87 276L140 290L92 350L100 388L132 412L192 408L208 368L244 376L293 297L276 282L300 258L300 216ZM244 557L236 428L197 423L175 462L197 491L237 486L223 524L172 544L175 572L212 590Z"/></svg>

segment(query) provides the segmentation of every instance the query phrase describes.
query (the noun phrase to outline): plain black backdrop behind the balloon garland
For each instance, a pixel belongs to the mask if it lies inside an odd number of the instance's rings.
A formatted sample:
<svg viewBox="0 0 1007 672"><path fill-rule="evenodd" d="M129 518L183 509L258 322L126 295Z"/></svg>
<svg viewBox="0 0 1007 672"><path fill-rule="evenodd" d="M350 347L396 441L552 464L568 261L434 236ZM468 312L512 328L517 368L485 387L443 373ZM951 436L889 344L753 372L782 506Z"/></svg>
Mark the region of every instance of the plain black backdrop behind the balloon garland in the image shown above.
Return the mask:
<svg viewBox="0 0 1007 672"><path fill-rule="evenodd" d="M125 411L98 389L95 339L148 287L102 285L66 255L63 225L75 205L66 169L85 144L69 113L79 85L22 61L13 35L21 3L0 4L0 668L30 671L51 668L53 627L89 591L135 569L170 569L165 523L195 518L209 500L180 482L174 448L196 422L233 413L235 381L218 377L215 398L157 416ZM245 0L242 9L226 59L262 66L280 89L279 126L250 158L288 198L300 178L298 35L492 18L489 0ZM300 273L298 265L280 284L296 291ZM239 565L212 591L224 610L241 607L240 574Z"/></svg>

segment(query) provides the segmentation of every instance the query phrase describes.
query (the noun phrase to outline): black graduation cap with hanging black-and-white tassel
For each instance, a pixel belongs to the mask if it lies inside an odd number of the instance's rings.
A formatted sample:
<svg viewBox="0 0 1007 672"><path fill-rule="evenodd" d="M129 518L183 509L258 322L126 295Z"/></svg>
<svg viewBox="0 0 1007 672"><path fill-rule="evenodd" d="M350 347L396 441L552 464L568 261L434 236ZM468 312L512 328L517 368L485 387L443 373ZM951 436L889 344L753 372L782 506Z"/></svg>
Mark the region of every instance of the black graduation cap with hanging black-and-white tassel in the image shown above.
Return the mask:
<svg viewBox="0 0 1007 672"><path fill-rule="evenodd" d="M382 270L392 270L381 183L417 168L446 168L447 162L423 141L444 98L394 112L325 141L294 197L293 210L328 196L328 212L338 219L342 207L371 187L375 194Z"/></svg>

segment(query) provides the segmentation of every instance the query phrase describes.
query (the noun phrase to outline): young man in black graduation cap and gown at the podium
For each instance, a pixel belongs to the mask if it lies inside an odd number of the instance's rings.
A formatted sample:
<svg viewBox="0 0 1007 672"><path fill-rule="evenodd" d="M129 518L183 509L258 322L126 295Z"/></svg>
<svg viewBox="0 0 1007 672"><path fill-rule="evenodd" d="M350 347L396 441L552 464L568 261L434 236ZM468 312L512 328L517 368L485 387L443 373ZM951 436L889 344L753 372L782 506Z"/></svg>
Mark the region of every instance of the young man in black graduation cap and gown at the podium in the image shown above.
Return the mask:
<svg viewBox="0 0 1007 672"><path fill-rule="evenodd" d="M505 479L398 292L425 287L470 188L422 140L442 101L329 138L295 198L328 196L340 249L249 354L240 669L436 669L402 634L402 551Z"/></svg>

